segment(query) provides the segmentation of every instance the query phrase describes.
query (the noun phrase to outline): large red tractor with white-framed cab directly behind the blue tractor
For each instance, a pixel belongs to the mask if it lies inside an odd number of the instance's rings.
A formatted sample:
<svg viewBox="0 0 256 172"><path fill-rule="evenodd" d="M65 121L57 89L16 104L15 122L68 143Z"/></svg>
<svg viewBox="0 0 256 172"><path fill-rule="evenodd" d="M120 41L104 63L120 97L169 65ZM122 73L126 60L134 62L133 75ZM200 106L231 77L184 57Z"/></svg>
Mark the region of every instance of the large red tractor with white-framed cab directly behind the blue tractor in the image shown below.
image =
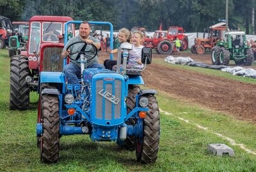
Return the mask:
<svg viewBox="0 0 256 172"><path fill-rule="evenodd" d="M40 71L62 71L64 24L71 17L34 16L29 20L26 51L13 55L10 66L10 110L26 110L29 92L38 91ZM75 33L74 24L68 29Z"/></svg>

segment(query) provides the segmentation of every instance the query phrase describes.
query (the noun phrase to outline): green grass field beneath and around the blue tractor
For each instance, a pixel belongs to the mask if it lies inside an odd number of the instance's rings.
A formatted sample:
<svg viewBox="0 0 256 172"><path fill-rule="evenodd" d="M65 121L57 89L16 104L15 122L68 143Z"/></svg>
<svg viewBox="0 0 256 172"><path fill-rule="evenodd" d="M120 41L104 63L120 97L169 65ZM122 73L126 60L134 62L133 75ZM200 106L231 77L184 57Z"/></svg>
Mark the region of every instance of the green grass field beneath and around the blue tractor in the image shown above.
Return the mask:
<svg viewBox="0 0 256 172"><path fill-rule="evenodd" d="M209 69L195 70L236 79L227 73L211 73ZM242 78L239 81L253 82ZM31 93L29 110L10 111L9 94L10 58L6 50L0 50L0 171L256 171L256 155L236 145L243 144L256 152L255 124L165 92L157 95L161 108L161 140L155 164L141 165L136 162L135 152L115 143L94 143L88 136L79 135L61 138L58 163L41 164L35 133L38 96ZM214 156L207 151L211 143L224 143L232 147L236 155Z"/></svg>

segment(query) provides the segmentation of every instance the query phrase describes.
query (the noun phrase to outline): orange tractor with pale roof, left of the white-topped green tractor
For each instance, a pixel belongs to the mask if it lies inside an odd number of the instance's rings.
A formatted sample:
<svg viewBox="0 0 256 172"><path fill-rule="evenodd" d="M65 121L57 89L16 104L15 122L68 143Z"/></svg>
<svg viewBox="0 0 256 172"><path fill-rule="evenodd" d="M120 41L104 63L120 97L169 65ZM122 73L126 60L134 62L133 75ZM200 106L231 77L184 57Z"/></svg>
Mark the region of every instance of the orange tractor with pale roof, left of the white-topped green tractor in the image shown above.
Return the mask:
<svg viewBox="0 0 256 172"><path fill-rule="evenodd" d="M212 50L217 41L223 39L223 35L225 35L225 22L212 25L209 27L207 38L205 38L205 34L204 38L195 38L195 45L191 47L191 52L201 55L204 54L205 49Z"/></svg>

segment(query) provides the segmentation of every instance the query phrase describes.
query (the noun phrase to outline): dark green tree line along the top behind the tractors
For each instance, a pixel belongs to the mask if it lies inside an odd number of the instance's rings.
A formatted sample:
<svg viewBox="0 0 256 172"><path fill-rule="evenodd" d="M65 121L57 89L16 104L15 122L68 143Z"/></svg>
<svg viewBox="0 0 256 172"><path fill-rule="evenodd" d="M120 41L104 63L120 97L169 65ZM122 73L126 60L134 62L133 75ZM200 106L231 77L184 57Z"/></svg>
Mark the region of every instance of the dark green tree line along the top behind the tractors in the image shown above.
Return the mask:
<svg viewBox="0 0 256 172"><path fill-rule="evenodd" d="M228 26L255 34L255 0L229 0ZM186 31L225 20L225 0L0 0L0 15L11 21L29 21L33 15L65 15L74 20L111 22L114 29L134 26L148 31L166 30L171 25Z"/></svg>

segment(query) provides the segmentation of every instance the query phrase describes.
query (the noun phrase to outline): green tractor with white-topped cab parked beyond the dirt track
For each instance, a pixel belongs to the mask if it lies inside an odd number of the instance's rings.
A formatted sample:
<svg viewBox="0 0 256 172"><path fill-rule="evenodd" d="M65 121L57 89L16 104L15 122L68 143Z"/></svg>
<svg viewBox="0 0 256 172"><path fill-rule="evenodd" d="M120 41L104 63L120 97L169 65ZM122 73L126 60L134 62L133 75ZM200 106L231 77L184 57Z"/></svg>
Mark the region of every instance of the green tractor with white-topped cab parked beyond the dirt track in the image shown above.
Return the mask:
<svg viewBox="0 0 256 172"><path fill-rule="evenodd" d="M212 48L212 64L228 65L234 60L236 65L250 66L253 62L252 48L246 45L246 35L242 31L226 32L224 40Z"/></svg>

